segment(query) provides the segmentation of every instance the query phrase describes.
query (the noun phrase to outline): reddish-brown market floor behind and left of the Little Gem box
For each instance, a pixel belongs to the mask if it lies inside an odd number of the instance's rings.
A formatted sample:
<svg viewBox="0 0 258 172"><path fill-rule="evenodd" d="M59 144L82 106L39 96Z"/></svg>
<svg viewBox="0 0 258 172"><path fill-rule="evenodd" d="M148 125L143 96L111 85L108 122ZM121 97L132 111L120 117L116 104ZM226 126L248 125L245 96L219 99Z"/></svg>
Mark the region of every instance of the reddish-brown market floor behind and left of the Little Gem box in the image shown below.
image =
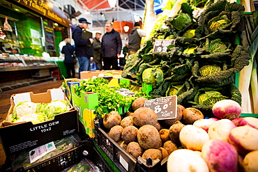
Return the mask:
<svg viewBox="0 0 258 172"><path fill-rule="evenodd" d="M33 92L36 93L45 93L48 89L59 88L63 80L59 81L44 81L38 84L33 84L30 86L24 86L20 88L15 88L9 91L0 92L0 122L2 122L8 113L10 108L10 96L16 93L24 92ZM3 164L5 163L6 155L4 153L3 147L0 143L0 171L3 169Z"/></svg>

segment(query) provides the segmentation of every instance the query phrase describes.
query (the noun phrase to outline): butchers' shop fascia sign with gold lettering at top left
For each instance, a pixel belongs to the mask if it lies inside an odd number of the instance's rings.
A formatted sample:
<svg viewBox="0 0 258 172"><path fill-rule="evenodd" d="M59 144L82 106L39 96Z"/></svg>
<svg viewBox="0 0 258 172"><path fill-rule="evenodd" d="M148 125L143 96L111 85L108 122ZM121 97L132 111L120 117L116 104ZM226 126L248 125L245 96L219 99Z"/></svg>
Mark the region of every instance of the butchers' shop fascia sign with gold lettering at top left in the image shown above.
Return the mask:
<svg viewBox="0 0 258 172"><path fill-rule="evenodd" d="M45 17L48 17L49 19L54 20L54 22L57 22L59 24L62 24L63 26L69 27L69 19L62 10L54 6L53 3L50 1L43 1L43 0L12 0L16 3L21 4L22 6L25 6L26 8L29 8L33 11L36 11L36 13L39 13L40 15L44 15Z"/></svg>

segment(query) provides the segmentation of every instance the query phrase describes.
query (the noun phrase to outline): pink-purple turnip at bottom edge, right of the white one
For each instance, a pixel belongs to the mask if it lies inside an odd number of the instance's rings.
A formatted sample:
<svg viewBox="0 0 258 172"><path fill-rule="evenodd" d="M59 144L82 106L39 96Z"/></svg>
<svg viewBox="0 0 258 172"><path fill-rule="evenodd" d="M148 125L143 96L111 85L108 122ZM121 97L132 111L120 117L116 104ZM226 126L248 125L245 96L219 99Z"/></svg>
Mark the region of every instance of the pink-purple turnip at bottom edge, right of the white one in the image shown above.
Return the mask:
<svg viewBox="0 0 258 172"><path fill-rule="evenodd" d="M237 172L238 153L227 141L211 139L202 146L202 157L211 172Z"/></svg>

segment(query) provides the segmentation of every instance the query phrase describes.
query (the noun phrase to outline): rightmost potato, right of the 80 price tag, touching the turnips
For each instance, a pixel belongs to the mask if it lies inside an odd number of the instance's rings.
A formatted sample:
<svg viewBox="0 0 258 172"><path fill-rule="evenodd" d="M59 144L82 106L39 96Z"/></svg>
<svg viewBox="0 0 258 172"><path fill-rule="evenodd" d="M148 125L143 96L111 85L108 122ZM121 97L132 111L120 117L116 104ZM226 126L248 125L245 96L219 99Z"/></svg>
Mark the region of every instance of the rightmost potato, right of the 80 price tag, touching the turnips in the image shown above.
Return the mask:
<svg viewBox="0 0 258 172"><path fill-rule="evenodd" d="M182 119L184 125L192 125L196 120L204 119L204 115L202 114L202 111L199 111L199 109L188 107L183 109Z"/></svg>

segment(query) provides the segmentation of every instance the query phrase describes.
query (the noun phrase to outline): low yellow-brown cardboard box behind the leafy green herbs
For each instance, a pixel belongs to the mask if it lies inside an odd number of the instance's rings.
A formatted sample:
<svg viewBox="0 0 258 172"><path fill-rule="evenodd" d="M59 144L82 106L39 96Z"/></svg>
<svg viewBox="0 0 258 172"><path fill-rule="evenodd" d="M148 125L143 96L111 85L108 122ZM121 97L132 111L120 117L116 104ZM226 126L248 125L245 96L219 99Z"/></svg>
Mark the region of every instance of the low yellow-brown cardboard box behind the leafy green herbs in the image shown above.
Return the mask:
<svg viewBox="0 0 258 172"><path fill-rule="evenodd" d="M104 77L107 73L113 74L113 77L121 77L121 70L96 70L80 72L81 79L88 79L92 77Z"/></svg>

